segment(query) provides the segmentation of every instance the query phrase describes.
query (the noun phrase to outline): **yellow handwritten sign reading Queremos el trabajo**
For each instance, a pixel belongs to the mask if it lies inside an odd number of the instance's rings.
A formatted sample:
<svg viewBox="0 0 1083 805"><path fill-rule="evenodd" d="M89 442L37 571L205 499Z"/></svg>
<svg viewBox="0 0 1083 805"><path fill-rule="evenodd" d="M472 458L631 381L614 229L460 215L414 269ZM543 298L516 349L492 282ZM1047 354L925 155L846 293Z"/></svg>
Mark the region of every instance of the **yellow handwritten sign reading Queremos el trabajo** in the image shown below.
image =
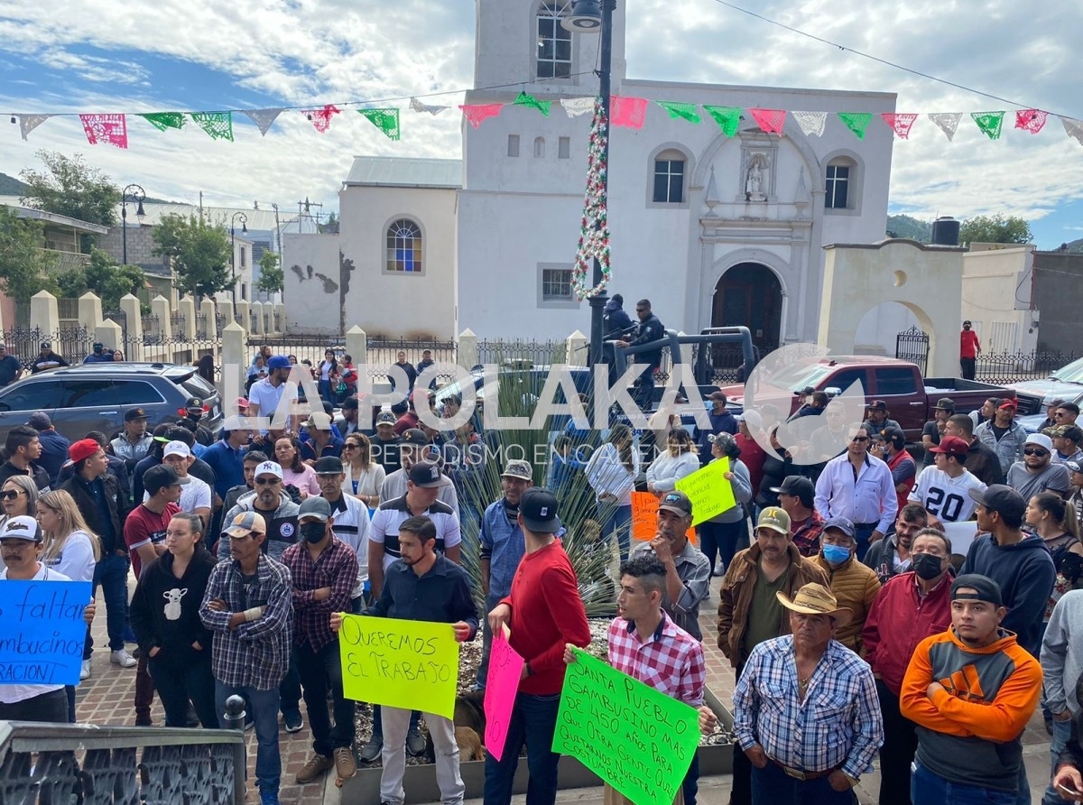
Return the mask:
<svg viewBox="0 0 1083 805"><path fill-rule="evenodd" d="M347 699L455 715L459 645L452 624L344 615L339 641Z"/></svg>

